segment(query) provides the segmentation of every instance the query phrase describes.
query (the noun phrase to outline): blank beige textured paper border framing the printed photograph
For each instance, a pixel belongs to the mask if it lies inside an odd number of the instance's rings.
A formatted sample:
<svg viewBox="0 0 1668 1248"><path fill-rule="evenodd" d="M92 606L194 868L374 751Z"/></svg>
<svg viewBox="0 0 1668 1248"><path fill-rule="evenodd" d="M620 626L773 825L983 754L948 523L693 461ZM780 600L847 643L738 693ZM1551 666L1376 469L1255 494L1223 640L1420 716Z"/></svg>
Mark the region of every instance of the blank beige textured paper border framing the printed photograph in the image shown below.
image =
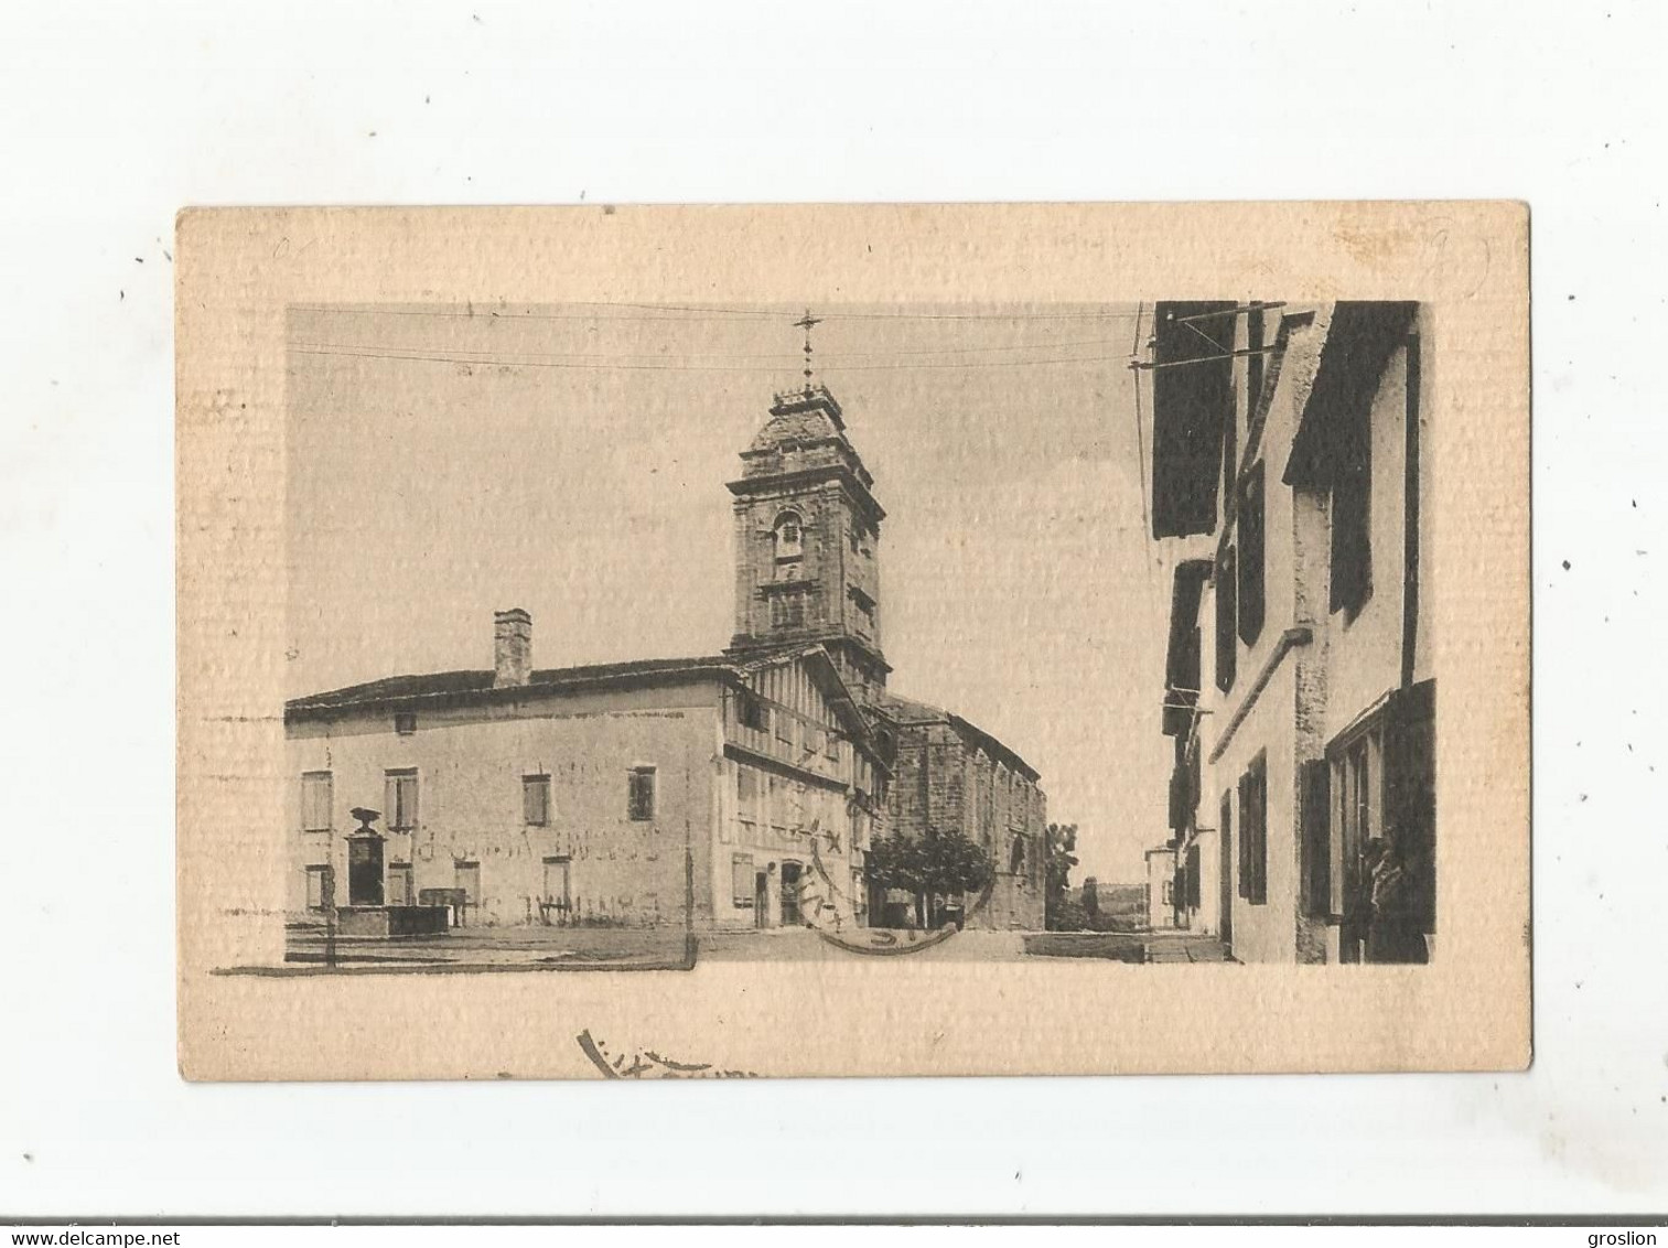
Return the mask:
<svg viewBox="0 0 1668 1248"><path fill-rule="evenodd" d="M582 1034L614 1051L647 1046L771 1076L1530 1061L1525 205L227 209L182 212L175 255L187 1078L599 1078ZM282 844L290 302L1088 302L1271 290L1418 299L1439 327L1438 963L1171 969L854 958L664 973L214 973L269 953L272 924L259 911L277 891L275 868L265 894L254 878Z"/></svg>

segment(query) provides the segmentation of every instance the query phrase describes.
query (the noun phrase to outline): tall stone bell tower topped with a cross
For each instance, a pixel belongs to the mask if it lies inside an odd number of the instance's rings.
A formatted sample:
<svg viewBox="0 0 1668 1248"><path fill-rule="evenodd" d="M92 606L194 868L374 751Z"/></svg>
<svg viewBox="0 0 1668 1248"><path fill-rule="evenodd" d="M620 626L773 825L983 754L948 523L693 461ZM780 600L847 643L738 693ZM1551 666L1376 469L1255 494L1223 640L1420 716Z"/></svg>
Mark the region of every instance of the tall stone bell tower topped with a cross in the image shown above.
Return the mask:
<svg viewBox="0 0 1668 1248"><path fill-rule="evenodd" d="M852 696L869 702L891 671L881 651L881 521L874 479L846 437L829 389L811 380L777 394L771 419L741 452L736 496L736 636L746 659L821 642Z"/></svg>

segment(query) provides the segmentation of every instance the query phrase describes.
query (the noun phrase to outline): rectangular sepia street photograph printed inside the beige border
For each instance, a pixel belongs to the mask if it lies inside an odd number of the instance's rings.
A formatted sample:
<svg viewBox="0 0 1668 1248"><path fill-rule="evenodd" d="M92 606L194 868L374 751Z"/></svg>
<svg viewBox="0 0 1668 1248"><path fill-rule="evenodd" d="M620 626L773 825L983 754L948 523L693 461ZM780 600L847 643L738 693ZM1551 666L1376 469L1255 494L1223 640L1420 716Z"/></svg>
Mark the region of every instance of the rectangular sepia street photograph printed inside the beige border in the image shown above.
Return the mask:
<svg viewBox="0 0 1668 1248"><path fill-rule="evenodd" d="M285 966L1428 961L1429 339L292 305Z"/></svg>

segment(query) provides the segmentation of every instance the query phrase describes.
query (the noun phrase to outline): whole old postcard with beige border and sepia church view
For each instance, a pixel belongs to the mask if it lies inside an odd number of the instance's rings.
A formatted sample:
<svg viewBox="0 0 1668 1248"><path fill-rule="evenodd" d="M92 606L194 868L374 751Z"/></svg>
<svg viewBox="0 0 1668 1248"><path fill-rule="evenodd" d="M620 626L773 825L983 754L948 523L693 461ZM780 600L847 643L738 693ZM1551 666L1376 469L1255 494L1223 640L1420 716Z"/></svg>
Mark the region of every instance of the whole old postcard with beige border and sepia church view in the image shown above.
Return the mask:
<svg viewBox="0 0 1668 1248"><path fill-rule="evenodd" d="M1523 205L177 257L187 1078L1530 1061Z"/></svg>

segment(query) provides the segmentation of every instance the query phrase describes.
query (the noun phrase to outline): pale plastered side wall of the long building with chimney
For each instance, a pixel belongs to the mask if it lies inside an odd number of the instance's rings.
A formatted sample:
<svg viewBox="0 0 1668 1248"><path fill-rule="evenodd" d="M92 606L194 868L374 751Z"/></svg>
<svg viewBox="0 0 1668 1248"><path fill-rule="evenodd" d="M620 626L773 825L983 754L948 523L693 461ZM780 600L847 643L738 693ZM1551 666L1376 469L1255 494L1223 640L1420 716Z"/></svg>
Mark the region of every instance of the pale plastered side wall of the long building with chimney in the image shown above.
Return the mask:
<svg viewBox="0 0 1668 1248"><path fill-rule="evenodd" d="M400 736L390 716L300 724L290 732L290 838L285 899L305 904L305 866L334 861L337 903L347 903L344 838L354 806L384 811L385 861L414 866L414 889L454 888L455 861L480 864L475 923L537 921L544 858L567 854L570 893L582 918L620 923L682 923L684 849L704 868L711 829L716 691L706 687L544 699L519 711L419 712ZM656 818L627 818L627 774L656 767ZM389 833L384 772L415 767L415 836ZM329 771L330 833L300 831L300 776ZM550 776L550 823L529 828L522 776ZM697 881L704 876L697 871ZM702 898L701 901L706 901Z"/></svg>

